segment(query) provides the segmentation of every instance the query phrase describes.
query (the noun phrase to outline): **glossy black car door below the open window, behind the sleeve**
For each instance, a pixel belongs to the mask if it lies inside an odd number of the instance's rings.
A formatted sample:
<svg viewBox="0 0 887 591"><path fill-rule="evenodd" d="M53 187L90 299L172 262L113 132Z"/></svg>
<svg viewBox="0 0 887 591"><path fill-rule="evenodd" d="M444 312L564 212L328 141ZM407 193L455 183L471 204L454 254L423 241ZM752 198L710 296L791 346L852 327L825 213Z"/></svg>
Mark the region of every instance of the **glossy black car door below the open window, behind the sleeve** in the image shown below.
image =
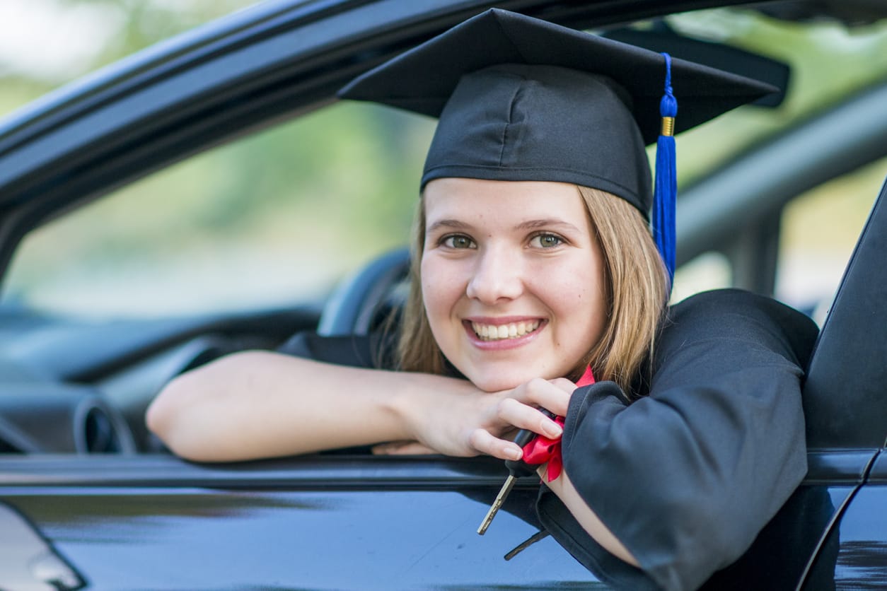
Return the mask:
<svg viewBox="0 0 887 591"><path fill-rule="evenodd" d="M812 453L805 485L705 588L777 573L797 584L876 454ZM168 455L38 455L0 459L0 501L96 589L220 580L231 588L592 585L593 575L550 538L504 559L538 531L536 478L522 478L488 533L477 535L505 476L489 458L315 455L212 465Z"/></svg>

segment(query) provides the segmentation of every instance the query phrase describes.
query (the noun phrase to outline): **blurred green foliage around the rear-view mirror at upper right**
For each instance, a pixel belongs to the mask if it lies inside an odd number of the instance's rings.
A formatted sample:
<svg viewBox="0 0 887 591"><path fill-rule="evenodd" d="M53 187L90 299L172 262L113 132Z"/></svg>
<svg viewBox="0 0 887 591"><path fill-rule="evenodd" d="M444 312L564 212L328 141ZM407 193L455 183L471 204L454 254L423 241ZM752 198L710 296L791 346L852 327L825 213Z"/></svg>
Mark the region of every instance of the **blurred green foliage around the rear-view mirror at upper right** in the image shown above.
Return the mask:
<svg viewBox="0 0 887 591"><path fill-rule="evenodd" d="M887 81L887 20L848 29L718 9L669 19L679 33L726 43L789 65L789 90L776 109L748 107L679 138L679 182L691 183L762 138L875 82Z"/></svg>

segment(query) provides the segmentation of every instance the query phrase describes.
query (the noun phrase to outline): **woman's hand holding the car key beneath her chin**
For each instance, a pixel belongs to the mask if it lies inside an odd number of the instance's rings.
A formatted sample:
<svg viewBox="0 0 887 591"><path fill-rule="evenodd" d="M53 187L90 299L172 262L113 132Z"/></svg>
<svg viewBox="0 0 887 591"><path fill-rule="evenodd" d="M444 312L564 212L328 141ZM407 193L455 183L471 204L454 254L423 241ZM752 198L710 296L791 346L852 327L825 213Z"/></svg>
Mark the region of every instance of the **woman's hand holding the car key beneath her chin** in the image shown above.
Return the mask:
<svg viewBox="0 0 887 591"><path fill-rule="evenodd" d="M510 440L514 432L529 429L546 437L560 436L560 425L539 408L565 415L575 389L566 378L537 378L497 393L467 384L458 391L413 393L404 399L404 416L416 441L437 453L517 460L522 449Z"/></svg>

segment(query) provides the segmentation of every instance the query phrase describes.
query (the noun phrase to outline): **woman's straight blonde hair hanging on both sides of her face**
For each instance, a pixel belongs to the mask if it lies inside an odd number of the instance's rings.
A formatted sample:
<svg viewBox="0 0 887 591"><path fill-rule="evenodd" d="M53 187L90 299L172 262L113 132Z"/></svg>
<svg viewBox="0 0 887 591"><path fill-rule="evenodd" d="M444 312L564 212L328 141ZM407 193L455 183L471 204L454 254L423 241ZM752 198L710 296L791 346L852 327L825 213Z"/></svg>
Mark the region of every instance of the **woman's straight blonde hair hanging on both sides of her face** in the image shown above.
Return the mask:
<svg viewBox="0 0 887 591"><path fill-rule="evenodd" d="M606 191L583 186L578 191L604 256L607 322L598 342L567 377L575 381L591 365L599 381L612 380L632 395L632 382L653 351L668 279L647 222L634 206ZM446 361L431 333L422 301L424 248L425 204L420 199L413 224L410 292L397 344L398 367L443 374Z"/></svg>

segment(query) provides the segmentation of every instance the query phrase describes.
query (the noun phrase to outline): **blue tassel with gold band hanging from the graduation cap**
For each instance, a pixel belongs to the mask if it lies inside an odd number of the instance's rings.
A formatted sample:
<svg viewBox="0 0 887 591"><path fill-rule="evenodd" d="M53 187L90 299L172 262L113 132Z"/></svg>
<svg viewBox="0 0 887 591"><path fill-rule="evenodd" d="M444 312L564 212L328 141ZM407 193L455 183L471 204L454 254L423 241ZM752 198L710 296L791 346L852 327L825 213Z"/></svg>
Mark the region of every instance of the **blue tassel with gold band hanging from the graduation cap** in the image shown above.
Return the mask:
<svg viewBox="0 0 887 591"><path fill-rule="evenodd" d="M678 178L674 148L674 118L678 115L678 101L671 94L671 56L665 58L665 94L659 103L663 128L656 142L656 173L653 191L653 239L668 269L669 283L674 279L675 263L675 200Z"/></svg>

